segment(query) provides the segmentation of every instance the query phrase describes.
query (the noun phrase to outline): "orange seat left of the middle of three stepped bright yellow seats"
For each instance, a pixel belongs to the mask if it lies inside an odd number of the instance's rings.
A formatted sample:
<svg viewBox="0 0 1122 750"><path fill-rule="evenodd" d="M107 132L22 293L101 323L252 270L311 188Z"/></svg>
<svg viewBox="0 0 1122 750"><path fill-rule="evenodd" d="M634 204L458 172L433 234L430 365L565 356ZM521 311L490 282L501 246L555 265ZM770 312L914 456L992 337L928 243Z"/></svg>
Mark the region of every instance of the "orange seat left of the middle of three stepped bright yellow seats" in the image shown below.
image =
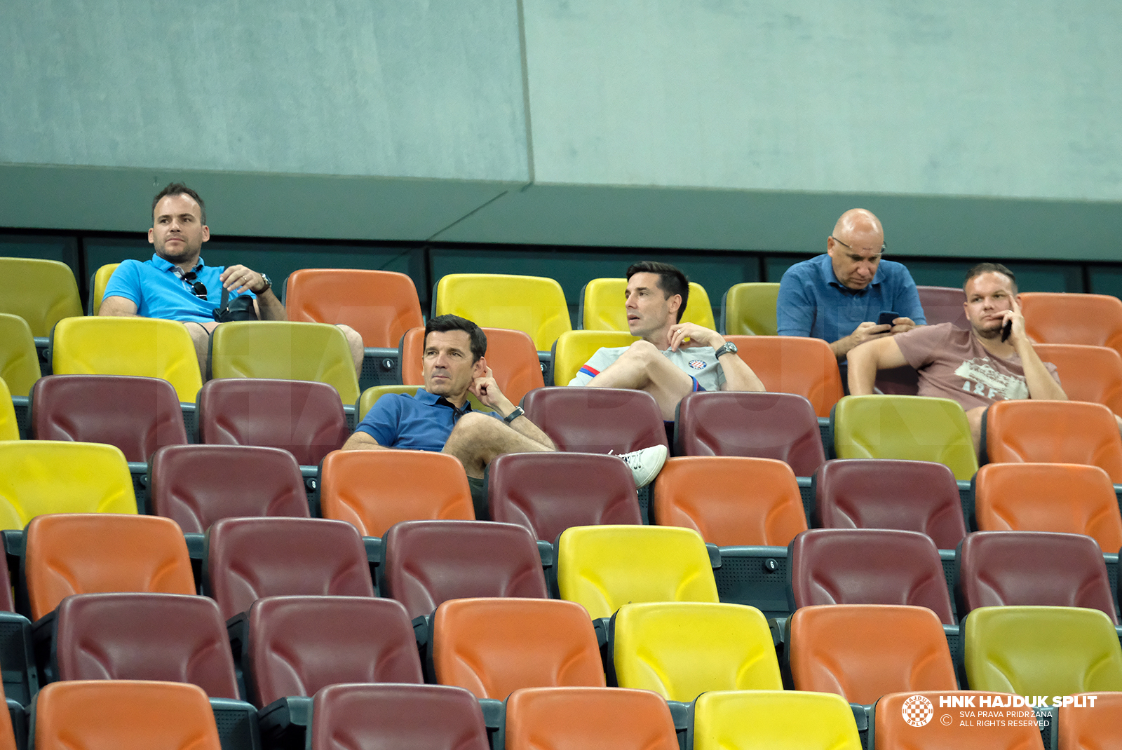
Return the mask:
<svg viewBox="0 0 1122 750"><path fill-rule="evenodd" d="M504 700L522 687L604 687L588 614L555 599L453 599L432 619L436 682Z"/></svg>

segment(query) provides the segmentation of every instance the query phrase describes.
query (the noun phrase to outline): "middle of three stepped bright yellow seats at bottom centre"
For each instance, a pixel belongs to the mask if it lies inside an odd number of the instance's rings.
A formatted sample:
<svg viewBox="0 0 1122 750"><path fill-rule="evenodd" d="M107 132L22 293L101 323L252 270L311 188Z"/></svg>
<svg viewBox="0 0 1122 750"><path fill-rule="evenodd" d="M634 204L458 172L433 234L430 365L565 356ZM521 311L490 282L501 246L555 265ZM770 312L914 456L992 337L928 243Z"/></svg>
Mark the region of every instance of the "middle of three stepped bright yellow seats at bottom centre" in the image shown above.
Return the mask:
<svg viewBox="0 0 1122 750"><path fill-rule="evenodd" d="M767 621L743 604L624 604L609 656L619 687L689 702L707 691L783 689Z"/></svg>

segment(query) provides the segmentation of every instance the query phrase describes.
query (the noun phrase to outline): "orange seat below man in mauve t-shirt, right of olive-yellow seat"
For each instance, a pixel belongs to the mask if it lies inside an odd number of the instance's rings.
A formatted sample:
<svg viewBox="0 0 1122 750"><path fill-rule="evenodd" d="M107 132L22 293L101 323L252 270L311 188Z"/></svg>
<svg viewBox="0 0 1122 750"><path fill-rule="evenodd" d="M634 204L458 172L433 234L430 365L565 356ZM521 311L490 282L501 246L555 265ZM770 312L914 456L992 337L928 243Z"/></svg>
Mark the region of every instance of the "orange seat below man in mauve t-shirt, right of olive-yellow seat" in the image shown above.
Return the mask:
<svg viewBox="0 0 1122 750"><path fill-rule="evenodd" d="M1089 464L1122 483L1122 437L1102 404L997 401L986 409L982 443L993 463Z"/></svg>

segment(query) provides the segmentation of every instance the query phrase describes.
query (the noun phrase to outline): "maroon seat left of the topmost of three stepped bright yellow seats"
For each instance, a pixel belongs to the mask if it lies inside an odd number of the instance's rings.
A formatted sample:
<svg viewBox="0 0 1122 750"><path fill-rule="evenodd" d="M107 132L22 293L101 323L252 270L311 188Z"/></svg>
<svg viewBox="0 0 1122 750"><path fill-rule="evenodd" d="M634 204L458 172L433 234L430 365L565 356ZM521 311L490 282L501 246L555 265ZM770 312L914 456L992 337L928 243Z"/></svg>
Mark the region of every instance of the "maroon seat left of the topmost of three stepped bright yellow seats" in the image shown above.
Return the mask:
<svg viewBox="0 0 1122 750"><path fill-rule="evenodd" d="M411 620L450 599L549 596L534 537L514 524L402 521L381 545L378 591Z"/></svg>

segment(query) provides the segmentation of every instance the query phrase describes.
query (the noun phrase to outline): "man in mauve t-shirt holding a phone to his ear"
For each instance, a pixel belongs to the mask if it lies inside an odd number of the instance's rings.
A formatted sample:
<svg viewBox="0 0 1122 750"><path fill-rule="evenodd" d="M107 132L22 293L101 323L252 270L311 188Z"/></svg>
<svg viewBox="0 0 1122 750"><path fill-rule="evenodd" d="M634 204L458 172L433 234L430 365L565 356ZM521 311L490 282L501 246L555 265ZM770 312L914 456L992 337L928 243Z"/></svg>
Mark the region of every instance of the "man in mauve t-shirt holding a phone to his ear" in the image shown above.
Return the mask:
<svg viewBox="0 0 1122 750"><path fill-rule="evenodd" d="M926 325L870 341L849 352L849 392L873 392L876 371L910 364L919 371L919 395L950 398L963 405L977 450L982 415L994 401L1010 398L1067 400L1056 365L1041 362L1024 334L1017 299L1017 278L1001 263L978 263L966 272L966 318ZM1011 323L1009 337L1002 328Z"/></svg>

